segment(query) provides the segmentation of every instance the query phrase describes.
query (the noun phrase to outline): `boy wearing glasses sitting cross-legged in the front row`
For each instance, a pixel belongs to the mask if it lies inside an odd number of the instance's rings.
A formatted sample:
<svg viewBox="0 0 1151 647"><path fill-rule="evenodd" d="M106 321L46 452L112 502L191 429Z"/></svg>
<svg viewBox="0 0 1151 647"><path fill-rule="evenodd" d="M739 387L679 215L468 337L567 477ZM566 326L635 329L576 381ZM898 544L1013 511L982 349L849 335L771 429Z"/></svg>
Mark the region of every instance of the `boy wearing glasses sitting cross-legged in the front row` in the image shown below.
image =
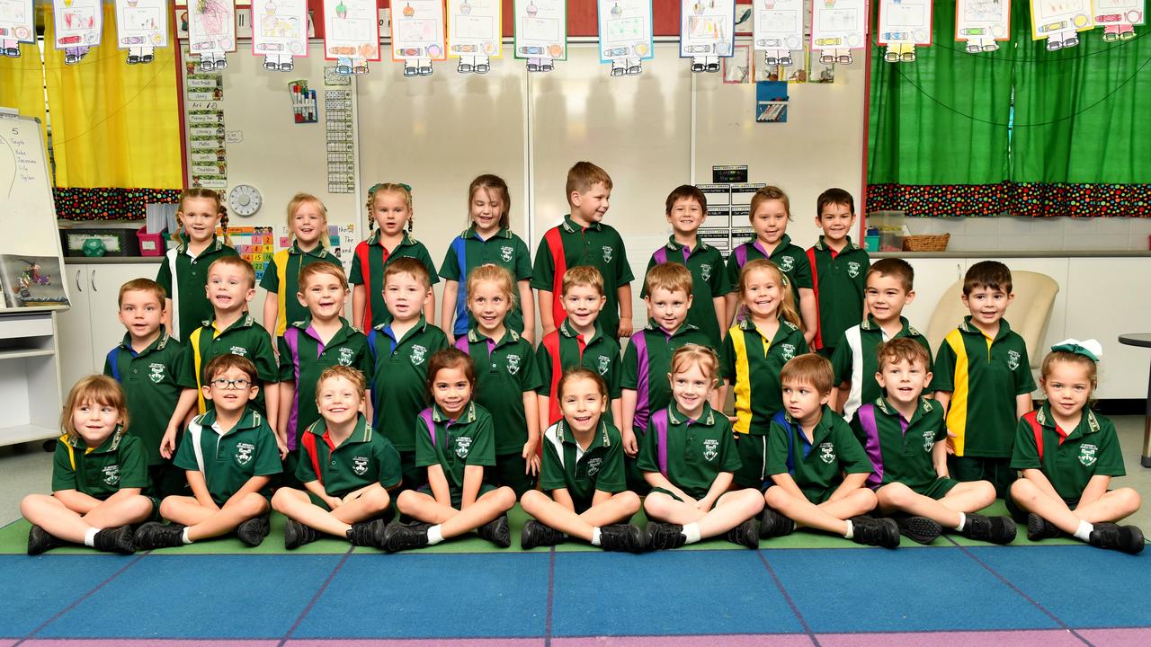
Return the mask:
<svg viewBox="0 0 1151 647"><path fill-rule="evenodd" d="M221 355L208 361L204 376L204 397L215 406L188 425L175 458L188 472L192 496L165 497L160 515L173 524L144 524L136 548L177 547L233 531L247 546L259 546L268 535L268 484L283 467L275 433L251 405L260 390L256 365Z"/></svg>

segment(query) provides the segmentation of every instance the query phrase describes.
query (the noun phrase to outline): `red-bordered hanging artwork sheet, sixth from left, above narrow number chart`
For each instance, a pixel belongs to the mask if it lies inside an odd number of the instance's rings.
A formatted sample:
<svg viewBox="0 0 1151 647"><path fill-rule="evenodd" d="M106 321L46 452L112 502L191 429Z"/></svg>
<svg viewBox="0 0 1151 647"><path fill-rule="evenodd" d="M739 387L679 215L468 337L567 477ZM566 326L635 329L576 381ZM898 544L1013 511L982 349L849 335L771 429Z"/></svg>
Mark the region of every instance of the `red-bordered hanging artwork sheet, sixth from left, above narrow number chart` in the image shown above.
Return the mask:
<svg viewBox="0 0 1151 647"><path fill-rule="evenodd" d="M375 0L323 0L323 58L344 76L365 75L367 62L380 60Z"/></svg>

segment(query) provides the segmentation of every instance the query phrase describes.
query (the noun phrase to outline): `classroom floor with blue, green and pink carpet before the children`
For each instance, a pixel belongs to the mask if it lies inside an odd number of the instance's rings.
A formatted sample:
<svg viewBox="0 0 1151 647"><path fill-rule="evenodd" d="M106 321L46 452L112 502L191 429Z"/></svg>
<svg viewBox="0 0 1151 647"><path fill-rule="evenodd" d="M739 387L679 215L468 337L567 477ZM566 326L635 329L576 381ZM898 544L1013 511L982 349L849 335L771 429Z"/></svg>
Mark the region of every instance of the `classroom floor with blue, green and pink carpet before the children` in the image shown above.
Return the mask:
<svg viewBox="0 0 1151 647"><path fill-rule="evenodd" d="M1115 418L1129 485L1142 418ZM709 541L619 555L578 543L518 549L480 539L397 555L335 540L287 553L235 539L132 557L24 555L24 493L51 455L0 454L0 647L683 647L1151 645L1151 550L1072 540L1011 547L944 535L930 547L859 548L806 532L761 550ZM1131 523L1151 531L1145 505ZM1001 503L996 504L1001 510Z"/></svg>

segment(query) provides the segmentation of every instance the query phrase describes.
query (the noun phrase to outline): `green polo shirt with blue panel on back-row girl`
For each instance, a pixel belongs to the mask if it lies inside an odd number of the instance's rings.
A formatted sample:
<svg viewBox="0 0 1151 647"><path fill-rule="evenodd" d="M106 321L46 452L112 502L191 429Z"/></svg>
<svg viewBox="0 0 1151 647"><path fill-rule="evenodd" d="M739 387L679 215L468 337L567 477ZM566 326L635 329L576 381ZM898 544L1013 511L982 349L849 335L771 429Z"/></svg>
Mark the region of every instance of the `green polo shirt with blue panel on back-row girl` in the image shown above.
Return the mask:
<svg viewBox="0 0 1151 647"><path fill-rule="evenodd" d="M467 276L477 267L489 262L510 272L516 282L532 280L532 257L523 238L509 229L501 229L485 241L475 233L474 226L465 229L448 245L448 253L440 266L441 279L459 283L452 336L465 335L472 326L471 313L467 312ZM516 296L519 296L519 290L516 290ZM517 333L524 332L524 310L519 298L513 299L504 325Z"/></svg>

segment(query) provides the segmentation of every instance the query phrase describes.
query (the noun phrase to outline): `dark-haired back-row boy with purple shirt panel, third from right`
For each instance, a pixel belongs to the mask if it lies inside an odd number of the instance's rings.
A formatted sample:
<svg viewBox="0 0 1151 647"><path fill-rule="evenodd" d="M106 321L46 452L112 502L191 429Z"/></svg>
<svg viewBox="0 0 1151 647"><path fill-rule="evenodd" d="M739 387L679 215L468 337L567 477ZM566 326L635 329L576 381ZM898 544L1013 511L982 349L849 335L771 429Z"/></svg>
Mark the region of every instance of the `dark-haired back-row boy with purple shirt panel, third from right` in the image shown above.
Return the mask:
<svg viewBox="0 0 1151 647"><path fill-rule="evenodd" d="M691 184L677 187L668 195L666 214L671 236L666 245L651 254L648 272L664 262L684 265L691 271L694 298L687 321L707 335L709 347L719 348L723 330L731 321L725 298L732 288L724 272L723 254L699 236L700 226L708 216L708 199L703 191ZM647 297L647 290L640 296Z"/></svg>

